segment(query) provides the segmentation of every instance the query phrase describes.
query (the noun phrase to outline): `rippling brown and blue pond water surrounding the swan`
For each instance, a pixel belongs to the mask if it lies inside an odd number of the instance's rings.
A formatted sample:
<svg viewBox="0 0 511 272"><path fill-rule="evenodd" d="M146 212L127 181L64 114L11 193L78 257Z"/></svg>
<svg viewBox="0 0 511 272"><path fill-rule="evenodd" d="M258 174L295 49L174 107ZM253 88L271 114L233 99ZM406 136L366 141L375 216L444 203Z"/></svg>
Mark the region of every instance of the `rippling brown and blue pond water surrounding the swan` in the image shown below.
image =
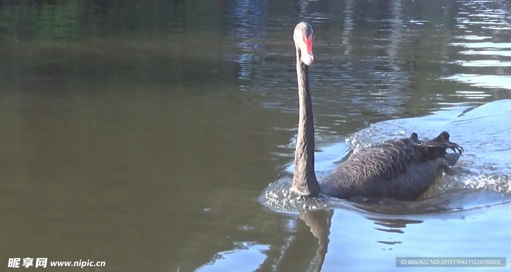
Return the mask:
<svg viewBox="0 0 511 272"><path fill-rule="evenodd" d="M509 8L0 2L0 260L410 271L395 257L511 258ZM350 148L443 130L466 150L458 173L414 202L284 196L300 20L315 34L318 176ZM323 209L289 211L303 206Z"/></svg>

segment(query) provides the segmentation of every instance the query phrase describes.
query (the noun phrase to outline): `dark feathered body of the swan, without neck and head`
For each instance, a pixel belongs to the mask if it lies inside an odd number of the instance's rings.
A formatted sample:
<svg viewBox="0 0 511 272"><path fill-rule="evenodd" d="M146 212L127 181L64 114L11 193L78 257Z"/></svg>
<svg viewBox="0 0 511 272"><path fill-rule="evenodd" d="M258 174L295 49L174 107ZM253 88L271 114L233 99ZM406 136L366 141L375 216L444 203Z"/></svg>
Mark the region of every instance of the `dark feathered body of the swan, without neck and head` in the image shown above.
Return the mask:
<svg viewBox="0 0 511 272"><path fill-rule="evenodd" d="M430 141L421 141L412 133L408 138L356 150L320 182L321 193L412 200L427 190L441 169L449 171L462 153L463 148L450 142L446 131Z"/></svg>

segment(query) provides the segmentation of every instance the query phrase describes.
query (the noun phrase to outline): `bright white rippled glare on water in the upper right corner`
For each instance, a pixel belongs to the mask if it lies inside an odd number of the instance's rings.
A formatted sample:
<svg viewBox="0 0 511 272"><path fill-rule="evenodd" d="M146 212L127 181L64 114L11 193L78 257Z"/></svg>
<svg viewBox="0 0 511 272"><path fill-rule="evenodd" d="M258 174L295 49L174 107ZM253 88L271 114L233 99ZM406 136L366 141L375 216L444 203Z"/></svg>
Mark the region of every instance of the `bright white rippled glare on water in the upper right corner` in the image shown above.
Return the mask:
<svg viewBox="0 0 511 272"><path fill-rule="evenodd" d="M451 46L460 55L466 55L464 59L458 59L452 63L467 67L462 71L469 73L455 73L444 77L470 84L474 87L486 88L511 88L509 81L509 66L506 57L511 56L511 47L507 39L503 38L503 30L511 29L511 19L503 2L469 1L463 3L456 17L458 35L454 37ZM473 29L477 28L477 35ZM474 73L476 72L476 73ZM484 94L473 92L458 93L469 99L484 98ZM487 94L492 95L492 94ZM498 93L499 98L509 97L508 93Z"/></svg>

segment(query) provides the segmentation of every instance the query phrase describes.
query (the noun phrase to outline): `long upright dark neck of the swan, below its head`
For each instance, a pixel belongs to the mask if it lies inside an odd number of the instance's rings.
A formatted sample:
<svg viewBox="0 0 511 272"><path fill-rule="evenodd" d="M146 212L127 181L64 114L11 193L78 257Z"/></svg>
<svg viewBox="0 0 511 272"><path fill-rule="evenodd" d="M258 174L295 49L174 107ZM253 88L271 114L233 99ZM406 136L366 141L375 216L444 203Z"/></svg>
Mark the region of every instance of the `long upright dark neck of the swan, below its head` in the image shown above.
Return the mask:
<svg viewBox="0 0 511 272"><path fill-rule="evenodd" d="M314 173L314 116L309 88L309 66L296 54L298 76L299 121L292 191L300 195L317 195L319 184Z"/></svg>

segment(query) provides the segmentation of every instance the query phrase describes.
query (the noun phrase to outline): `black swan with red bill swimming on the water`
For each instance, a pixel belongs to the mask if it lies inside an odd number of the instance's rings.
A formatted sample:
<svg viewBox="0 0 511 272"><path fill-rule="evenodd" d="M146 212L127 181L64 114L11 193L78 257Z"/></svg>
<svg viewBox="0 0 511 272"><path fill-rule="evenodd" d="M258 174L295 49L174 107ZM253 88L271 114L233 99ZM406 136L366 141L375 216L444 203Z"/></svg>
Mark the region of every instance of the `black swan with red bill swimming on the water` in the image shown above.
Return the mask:
<svg viewBox="0 0 511 272"><path fill-rule="evenodd" d="M440 171L449 172L463 148L442 132L433 140L409 138L381 142L357 150L318 183L314 173L314 117L309 88L309 65L314 61L312 27L300 22L294 29L298 76L299 121L291 191L304 196L318 194L338 198L393 198L413 200L421 196ZM452 149L454 153L447 153ZM456 153L457 151L457 153Z"/></svg>

